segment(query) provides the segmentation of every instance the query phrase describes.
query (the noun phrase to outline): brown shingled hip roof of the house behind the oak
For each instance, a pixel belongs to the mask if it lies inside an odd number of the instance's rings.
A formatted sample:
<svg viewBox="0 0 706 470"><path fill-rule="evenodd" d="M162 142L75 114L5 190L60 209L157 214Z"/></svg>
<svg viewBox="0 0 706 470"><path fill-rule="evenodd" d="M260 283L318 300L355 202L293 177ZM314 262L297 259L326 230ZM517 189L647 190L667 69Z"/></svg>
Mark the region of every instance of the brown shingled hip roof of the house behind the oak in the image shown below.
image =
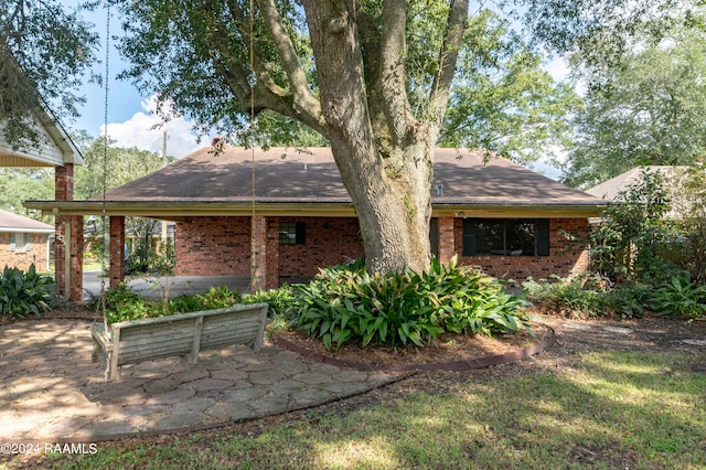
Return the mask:
<svg viewBox="0 0 706 470"><path fill-rule="evenodd" d="M482 153L457 149L436 150L430 191L435 212L534 207L597 214L605 205L595 196L506 159L493 158L484 164ZM100 195L84 202L83 206L87 209L86 204L103 202ZM211 147L206 147L105 194L108 209L136 210L149 205L156 215L164 214L167 205L171 212L182 207L189 213L199 207L197 212L203 214L211 207L212 212L235 214L239 207L247 214L254 203L263 213L268 206L282 207L282 211L296 207L298 212L327 206L354 214L329 148L309 148L304 152L270 148L253 152L231 147L214 156ZM72 205L78 207L82 203L62 203L62 212L69 213L66 211ZM46 210L36 202L28 206Z"/></svg>

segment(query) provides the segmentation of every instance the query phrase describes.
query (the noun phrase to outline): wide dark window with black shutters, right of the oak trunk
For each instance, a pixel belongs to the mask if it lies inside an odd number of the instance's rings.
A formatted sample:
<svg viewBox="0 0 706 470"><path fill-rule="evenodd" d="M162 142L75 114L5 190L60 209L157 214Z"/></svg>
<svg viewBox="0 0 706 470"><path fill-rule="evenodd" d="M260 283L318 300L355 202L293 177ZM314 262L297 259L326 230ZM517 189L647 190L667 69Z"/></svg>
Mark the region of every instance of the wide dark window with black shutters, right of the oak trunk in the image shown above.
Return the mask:
<svg viewBox="0 0 706 470"><path fill-rule="evenodd" d="M464 218L463 256L549 256L547 218Z"/></svg>

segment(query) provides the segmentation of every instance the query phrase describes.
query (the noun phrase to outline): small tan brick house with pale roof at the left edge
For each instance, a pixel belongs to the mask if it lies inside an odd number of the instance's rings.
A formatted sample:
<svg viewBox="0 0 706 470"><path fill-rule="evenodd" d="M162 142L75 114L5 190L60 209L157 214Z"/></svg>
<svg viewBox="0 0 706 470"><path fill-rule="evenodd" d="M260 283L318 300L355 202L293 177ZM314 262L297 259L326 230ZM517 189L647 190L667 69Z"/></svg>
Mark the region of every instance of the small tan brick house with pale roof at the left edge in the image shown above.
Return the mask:
<svg viewBox="0 0 706 470"><path fill-rule="evenodd" d="M54 227L33 218L0 210L0 269L4 266L47 271L49 237Z"/></svg>

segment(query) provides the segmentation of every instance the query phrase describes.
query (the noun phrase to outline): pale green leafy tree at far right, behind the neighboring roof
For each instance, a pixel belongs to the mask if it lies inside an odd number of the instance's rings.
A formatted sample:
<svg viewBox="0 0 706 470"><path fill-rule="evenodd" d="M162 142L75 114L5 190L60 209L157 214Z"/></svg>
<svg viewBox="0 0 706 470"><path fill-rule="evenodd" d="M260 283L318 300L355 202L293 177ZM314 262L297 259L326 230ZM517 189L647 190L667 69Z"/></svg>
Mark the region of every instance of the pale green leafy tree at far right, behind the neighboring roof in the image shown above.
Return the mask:
<svg viewBox="0 0 706 470"><path fill-rule="evenodd" d="M589 87L568 184L590 188L644 164L692 164L706 151L703 33L666 33L668 41L634 47L619 65L581 71Z"/></svg>

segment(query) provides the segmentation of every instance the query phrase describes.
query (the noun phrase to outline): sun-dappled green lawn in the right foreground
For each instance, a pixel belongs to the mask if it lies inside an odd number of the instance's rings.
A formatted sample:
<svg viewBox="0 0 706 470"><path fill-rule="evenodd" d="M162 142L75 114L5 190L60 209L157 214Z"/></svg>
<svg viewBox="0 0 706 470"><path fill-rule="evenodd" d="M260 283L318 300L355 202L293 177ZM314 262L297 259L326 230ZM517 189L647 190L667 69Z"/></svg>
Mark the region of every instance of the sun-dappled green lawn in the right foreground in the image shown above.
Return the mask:
<svg viewBox="0 0 706 470"><path fill-rule="evenodd" d="M253 435L223 429L160 444L105 442L96 455L45 456L40 467L704 469L706 374L691 364L705 360L697 351L593 352L560 371L478 374L451 391L400 392Z"/></svg>

